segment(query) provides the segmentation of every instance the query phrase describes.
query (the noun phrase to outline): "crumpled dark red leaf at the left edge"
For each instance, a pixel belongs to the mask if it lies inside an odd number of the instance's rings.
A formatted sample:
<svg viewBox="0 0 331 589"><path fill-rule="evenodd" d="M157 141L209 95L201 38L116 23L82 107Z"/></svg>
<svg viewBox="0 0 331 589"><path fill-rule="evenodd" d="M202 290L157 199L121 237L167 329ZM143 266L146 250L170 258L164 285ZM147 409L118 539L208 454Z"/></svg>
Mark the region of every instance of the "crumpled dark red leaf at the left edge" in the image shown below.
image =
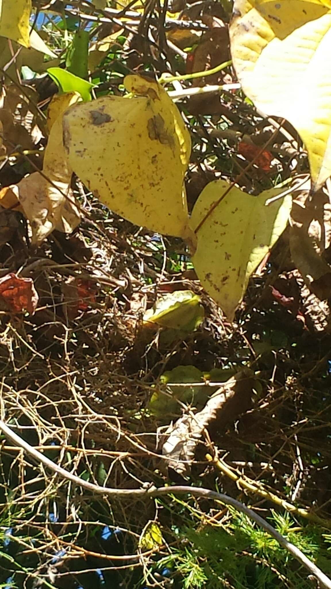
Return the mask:
<svg viewBox="0 0 331 589"><path fill-rule="evenodd" d="M38 303L38 293L31 278L6 274L0 278L0 302L13 313L28 312L33 315Z"/></svg>

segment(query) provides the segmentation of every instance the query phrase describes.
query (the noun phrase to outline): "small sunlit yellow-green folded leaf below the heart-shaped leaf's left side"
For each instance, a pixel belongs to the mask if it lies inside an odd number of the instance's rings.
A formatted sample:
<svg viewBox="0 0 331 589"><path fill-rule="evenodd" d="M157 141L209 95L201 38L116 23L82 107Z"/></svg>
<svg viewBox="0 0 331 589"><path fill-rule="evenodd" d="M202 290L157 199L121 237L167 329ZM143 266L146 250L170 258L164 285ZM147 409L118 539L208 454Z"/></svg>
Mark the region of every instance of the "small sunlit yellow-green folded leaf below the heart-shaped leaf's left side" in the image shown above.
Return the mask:
<svg viewBox="0 0 331 589"><path fill-rule="evenodd" d="M204 308L200 296L191 290L176 290L157 300L144 315L144 325L194 331L203 322Z"/></svg>

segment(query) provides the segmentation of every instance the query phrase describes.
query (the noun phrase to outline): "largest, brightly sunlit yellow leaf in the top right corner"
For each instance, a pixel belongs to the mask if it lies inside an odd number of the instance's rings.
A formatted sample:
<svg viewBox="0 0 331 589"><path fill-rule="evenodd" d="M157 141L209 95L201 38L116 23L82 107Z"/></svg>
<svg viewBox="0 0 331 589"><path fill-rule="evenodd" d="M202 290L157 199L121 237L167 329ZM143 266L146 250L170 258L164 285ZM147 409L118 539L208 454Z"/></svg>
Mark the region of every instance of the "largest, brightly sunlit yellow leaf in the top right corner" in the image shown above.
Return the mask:
<svg viewBox="0 0 331 589"><path fill-rule="evenodd" d="M331 2L235 0L231 54L244 92L306 145L312 188L331 175Z"/></svg>

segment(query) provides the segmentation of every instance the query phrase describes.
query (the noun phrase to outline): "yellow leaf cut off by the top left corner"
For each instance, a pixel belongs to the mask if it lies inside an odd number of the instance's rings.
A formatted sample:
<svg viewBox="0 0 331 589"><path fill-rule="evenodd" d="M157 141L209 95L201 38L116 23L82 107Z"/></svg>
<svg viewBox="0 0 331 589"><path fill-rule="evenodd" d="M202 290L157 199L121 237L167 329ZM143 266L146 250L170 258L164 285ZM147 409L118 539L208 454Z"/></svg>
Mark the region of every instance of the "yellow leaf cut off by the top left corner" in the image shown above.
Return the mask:
<svg viewBox="0 0 331 589"><path fill-rule="evenodd" d="M0 35L29 47L31 0L0 0Z"/></svg>

